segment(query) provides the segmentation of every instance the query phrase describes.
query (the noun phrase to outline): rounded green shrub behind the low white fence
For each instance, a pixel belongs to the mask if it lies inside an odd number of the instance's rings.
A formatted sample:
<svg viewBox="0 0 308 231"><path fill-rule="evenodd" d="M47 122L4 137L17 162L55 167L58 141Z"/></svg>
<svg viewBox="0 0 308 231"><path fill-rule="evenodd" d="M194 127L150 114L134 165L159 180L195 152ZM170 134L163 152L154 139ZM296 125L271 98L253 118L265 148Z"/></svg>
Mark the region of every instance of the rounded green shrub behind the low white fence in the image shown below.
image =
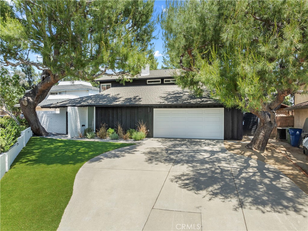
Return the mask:
<svg viewBox="0 0 308 231"><path fill-rule="evenodd" d="M21 133L21 127L13 118L0 118L0 151L7 152L16 142Z"/></svg>

